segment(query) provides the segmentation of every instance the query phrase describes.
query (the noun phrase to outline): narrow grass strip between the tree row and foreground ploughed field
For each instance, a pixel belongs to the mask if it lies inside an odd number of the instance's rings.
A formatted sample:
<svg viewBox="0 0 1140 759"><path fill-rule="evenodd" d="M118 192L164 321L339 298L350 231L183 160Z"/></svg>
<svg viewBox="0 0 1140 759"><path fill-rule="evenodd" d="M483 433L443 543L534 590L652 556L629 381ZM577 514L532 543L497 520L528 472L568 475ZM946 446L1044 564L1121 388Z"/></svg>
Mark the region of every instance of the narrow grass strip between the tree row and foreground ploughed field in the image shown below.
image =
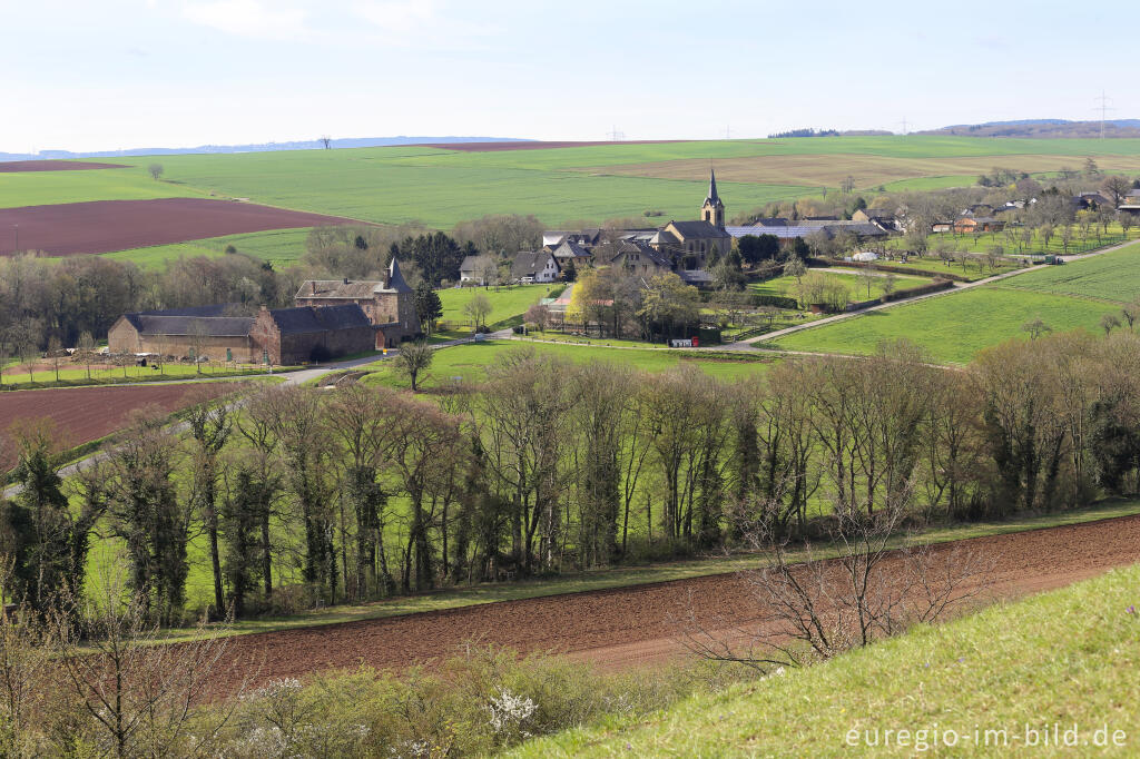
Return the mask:
<svg viewBox="0 0 1140 759"><path fill-rule="evenodd" d="M1104 503L1090 508L1073 512L1047 514L1043 516L1021 516L1007 520L1004 522L975 522L969 524L936 527L918 533L915 538L926 542L947 542L950 540L966 540L968 538L982 538L992 534L1023 532L1025 530L1041 530L1065 524L1082 524L1084 522L1096 522L1098 520L1115 519L1132 514L1140 514L1140 500ZM902 539L899 539L898 545L902 545ZM202 555L204 556L205 554L203 553ZM822 546L816 546L815 555L825 557L829 554ZM755 555L735 555L730 557L717 556L714 558L591 570L586 572L564 574L553 579L536 579L519 582L487 583L469 588L451 588L427 595L397 597L390 601L364 605L329 606L288 617L241 620L234 623L231 632L234 635L270 632L299 627L337 625L340 622L352 622L366 619L383 619L386 617L399 617L401 614L416 614L420 612L439 611L443 609L461 609L463 606L474 606L478 604L489 604L500 601L519 601L523 598L539 598L543 596L561 595L564 593L584 593L587 590L604 590L606 588L625 588L629 586L645 585L649 582L667 582L670 580L684 580L693 577L707 577L709 574L740 572L743 570L755 569L757 566L757 562L758 560ZM201 585L202 587L198 591L205 593L207 590L206 586L209 585L209 578L204 574L201 578ZM188 635L190 635L188 630L171 630L165 635L165 638L170 640L181 640L186 639Z"/></svg>

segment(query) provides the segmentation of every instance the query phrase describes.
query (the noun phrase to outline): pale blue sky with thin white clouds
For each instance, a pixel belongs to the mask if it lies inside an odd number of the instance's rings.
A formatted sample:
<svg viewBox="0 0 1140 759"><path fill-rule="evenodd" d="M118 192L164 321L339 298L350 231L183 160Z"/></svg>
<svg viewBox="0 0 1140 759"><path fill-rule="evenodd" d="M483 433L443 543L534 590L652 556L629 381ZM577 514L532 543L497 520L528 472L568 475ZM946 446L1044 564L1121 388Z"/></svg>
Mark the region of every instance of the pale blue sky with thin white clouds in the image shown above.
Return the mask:
<svg viewBox="0 0 1140 759"><path fill-rule="evenodd" d="M0 0L0 152L1140 117L1140 6Z"/></svg>

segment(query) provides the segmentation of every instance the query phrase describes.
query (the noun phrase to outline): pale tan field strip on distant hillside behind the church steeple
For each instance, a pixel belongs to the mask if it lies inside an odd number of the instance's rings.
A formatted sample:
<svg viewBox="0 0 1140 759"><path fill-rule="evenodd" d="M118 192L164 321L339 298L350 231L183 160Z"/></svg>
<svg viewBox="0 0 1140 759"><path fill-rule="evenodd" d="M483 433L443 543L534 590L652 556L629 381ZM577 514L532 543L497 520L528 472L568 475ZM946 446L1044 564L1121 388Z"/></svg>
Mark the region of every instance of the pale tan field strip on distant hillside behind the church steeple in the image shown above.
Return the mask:
<svg viewBox="0 0 1140 759"><path fill-rule="evenodd" d="M730 182L759 182L774 185L837 186L846 177L854 177L858 187L873 187L901 179L919 177L953 177L986 174L994 166L1008 166L1029 173L1058 171L1062 166L1078 169L1085 158L1066 155L996 155L951 158L903 158L895 156L837 154L819 155L767 155L739 158L712 158L717 179ZM1098 157L1098 161L1101 158ZM1138 156L1105 156L1105 171L1140 170ZM687 179L700 181L708 178L708 158L660 161L654 163L625 164L619 166L596 166L579 169L592 174L617 174L656 179Z"/></svg>

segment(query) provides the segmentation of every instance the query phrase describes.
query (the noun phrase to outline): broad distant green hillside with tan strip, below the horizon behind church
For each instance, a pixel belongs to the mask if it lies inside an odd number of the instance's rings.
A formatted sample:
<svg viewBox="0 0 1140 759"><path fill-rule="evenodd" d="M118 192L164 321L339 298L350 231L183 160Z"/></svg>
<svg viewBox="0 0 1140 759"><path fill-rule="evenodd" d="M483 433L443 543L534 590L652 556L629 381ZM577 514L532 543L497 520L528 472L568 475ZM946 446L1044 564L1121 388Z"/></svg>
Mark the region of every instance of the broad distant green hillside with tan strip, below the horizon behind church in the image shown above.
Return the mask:
<svg viewBox="0 0 1140 759"><path fill-rule="evenodd" d="M661 215L646 218L646 223L656 225L693 218L710 162L724 168L720 195L731 217L771 201L817 194L847 174L865 188L947 187L972 183L974 172L996 165L1049 173L1078 166L1085 156L1094 156L1105 171L1135 173L1140 140L883 136L483 153L405 146L136 156L119 160L128 169L0 174L0 207L213 194L441 229L489 213L535 214L553 227L644 218L652 210ZM155 162L165 170L161 181L146 171ZM145 248L124 258L154 263L188 252ZM264 258L291 260L286 254Z"/></svg>

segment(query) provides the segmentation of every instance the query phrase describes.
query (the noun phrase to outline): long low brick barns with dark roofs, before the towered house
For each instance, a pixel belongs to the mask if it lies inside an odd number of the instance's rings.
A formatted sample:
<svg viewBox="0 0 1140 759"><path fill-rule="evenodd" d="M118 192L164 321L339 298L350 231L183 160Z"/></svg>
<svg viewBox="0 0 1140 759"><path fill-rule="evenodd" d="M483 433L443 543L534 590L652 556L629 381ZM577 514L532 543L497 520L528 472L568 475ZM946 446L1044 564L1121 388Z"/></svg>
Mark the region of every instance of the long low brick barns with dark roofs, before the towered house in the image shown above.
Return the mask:
<svg viewBox="0 0 1140 759"><path fill-rule="evenodd" d="M225 316L222 307L124 313L107 333L112 353L193 361L291 365L372 350L376 328L359 305L267 309Z"/></svg>

